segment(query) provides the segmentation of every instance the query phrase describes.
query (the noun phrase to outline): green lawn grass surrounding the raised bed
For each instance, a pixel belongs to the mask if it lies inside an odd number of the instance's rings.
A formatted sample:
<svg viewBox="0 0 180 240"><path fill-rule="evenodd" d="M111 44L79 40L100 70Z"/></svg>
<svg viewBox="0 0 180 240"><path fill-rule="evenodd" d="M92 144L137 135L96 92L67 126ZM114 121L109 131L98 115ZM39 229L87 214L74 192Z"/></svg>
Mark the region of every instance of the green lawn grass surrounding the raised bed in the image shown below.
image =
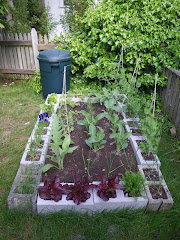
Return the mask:
<svg viewBox="0 0 180 240"><path fill-rule="evenodd" d="M180 239L180 159L177 139L163 135L158 156L174 199L169 211L113 211L88 216L60 212L47 216L10 211L7 197L44 100L22 82L0 86L0 240Z"/></svg>

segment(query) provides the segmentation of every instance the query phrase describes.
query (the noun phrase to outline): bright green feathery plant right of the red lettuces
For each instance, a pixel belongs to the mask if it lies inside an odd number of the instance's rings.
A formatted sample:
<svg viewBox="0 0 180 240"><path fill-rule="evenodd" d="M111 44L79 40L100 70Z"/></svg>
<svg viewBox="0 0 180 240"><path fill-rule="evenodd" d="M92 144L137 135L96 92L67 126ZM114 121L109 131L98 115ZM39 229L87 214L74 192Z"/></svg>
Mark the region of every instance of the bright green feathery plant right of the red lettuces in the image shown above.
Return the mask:
<svg viewBox="0 0 180 240"><path fill-rule="evenodd" d="M144 189L145 179L140 172L134 173L129 170L125 172L121 179L122 185L125 187L125 191L129 193L131 197L141 196L142 190Z"/></svg>

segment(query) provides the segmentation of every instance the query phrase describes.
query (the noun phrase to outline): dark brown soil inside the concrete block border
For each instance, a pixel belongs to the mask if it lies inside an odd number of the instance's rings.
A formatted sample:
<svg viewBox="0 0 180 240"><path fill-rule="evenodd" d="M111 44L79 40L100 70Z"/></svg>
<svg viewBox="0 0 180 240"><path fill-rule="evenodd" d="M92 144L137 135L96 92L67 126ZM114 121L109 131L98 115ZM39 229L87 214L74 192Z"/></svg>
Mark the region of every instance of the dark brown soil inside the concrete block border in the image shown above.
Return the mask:
<svg viewBox="0 0 180 240"><path fill-rule="evenodd" d="M85 104L81 103L73 109L73 111L76 110L88 111L88 108ZM103 111L105 111L103 106L100 104L93 104L94 116ZM84 116L81 113L79 113L76 117L77 120L84 119ZM119 117L120 119L123 119L121 115L119 115ZM96 153L93 150L90 151L89 147L85 143L85 139L89 138L86 128L75 122L74 131L71 133L71 139L74 141L74 146L78 146L78 149L76 149L72 154L67 154L65 156L63 170L51 168L46 174L48 177L54 179L55 176L58 176L61 182L72 182L73 178L70 174L70 170L75 169L80 179L83 179L84 176L87 176L86 167L88 166L88 162L91 167L90 181L99 180L96 177L96 174L101 174L104 177L112 177L115 175L122 176L126 169L130 169L130 167L131 171L137 172L137 162L130 142L127 140L128 147L125 149L125 153L122 150L117 156L115 156L116 145L114 139L109 138L109 135L112 133L109 121L106 118L103 118L97 122L96 126L100 126L104 129L104 140L106 140L104 148ZM47 155L52 156L50 148ZM84 156L86 166L83 162L82 156ZM108 162L110 161L113 161L111 169L108 168ZM50 157L47 157L45 163L48 164L53 162L50 160ZM44 177L45 175L43 175L43 178Z"/></svg>

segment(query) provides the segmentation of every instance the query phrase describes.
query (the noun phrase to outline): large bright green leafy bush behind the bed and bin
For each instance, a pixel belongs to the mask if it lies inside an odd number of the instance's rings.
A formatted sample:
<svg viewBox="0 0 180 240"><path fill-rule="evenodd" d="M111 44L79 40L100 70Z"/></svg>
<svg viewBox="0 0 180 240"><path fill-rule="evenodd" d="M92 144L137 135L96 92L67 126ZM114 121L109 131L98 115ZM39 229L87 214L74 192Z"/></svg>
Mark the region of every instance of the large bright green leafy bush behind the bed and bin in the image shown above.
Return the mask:
<svg viewBox="0 0 180 240"><path fill-rule="evenodd" d="M119 60L124 46L124 66L134 68L140 56L138 75L153 76L162 65L179 68L179 17L178 0L102 0L86 10L78 31L61 43L73 56L72 73L97 77L96 60ZM141 81L147 85L149 77ZM159 83L164 85L163 79Z"/></svg>

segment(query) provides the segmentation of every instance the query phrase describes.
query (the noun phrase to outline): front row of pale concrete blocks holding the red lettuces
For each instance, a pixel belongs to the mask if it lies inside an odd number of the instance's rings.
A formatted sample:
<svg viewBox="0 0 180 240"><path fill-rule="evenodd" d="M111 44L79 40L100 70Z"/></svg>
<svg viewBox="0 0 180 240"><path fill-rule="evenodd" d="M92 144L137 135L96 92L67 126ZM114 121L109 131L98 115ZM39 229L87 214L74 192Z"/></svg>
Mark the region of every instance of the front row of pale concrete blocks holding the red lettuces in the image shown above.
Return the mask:
<svg viewBox="0 0 180 240"><path fill-rule="evenodd" d="M100 182L93 182L93 184L99 184ZM68 183L71 184L71 183ZM41 186L43 183L40 184ZM116 190L117 197L110 198L109 201L103 201L98 195L95 189L90 189L88 192L91 193L91 197L80 205L76 205L72 200L67 201L66 196L62 196L62 200L55 202L53 200L43 200L39 197L37 198L37 213L51 213L65 210L74 210L80 212L88 212L88 214L93 214L94 212L102 212L103 210L111 211L115 209L139 209L146 208L148 199L146 194L143 194L143 197L138 197L137 199L133 197L127 197L124 195L122 190Z"/></svg>

